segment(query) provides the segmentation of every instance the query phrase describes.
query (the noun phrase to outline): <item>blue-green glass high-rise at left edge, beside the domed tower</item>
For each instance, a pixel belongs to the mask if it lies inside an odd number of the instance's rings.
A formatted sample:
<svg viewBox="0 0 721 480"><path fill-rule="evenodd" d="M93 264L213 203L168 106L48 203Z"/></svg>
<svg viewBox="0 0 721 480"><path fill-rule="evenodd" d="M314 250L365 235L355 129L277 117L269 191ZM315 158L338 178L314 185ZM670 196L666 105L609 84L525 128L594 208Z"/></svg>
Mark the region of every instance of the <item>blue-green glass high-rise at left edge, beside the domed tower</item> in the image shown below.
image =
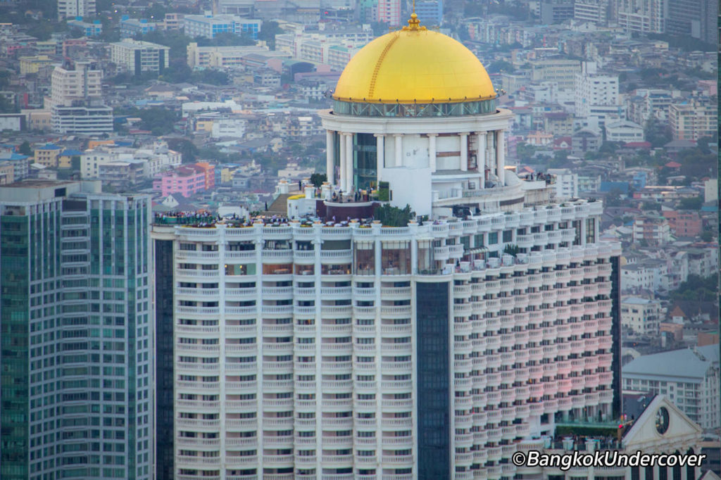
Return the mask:
<svg viewBox="0 0 721 480"><path fill-rule="evenodd" d="M153 473L150 198L87 186L0 188L4 480Z"/></svg>

